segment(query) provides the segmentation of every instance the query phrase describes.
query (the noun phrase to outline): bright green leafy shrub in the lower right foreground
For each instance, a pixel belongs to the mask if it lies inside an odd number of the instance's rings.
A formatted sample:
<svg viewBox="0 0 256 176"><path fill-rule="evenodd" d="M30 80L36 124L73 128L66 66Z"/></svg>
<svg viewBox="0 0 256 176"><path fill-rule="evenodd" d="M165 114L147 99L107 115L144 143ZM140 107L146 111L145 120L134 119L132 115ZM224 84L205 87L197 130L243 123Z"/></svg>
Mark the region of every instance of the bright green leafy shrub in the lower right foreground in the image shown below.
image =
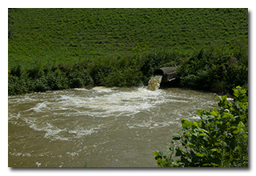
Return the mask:
<svg viewBox="0 0 256 176"><path fill-rule="evenodd" d="M153 152L158 166L248 166L248 94L237 86L232 103L226 95L218 99L220 109L198 110L198 122L182 118L183 134L173 134L170 155Z"/></svg>

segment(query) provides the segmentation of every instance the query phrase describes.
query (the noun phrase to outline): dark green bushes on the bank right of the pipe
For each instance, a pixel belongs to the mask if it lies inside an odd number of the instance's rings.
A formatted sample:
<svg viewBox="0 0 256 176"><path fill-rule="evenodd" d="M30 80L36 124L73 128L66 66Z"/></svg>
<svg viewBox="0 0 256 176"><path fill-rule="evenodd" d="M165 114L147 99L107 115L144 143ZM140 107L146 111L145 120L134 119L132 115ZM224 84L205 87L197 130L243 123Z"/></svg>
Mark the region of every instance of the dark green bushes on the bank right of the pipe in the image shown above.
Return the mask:
<svg viewBox="0 0 256 176"><path fill-rule="evenodd" d="M180 86L232 94L232 88L248 84L248 46L236 50L224 46L207 46L184 59L178 67Z"/></svg>

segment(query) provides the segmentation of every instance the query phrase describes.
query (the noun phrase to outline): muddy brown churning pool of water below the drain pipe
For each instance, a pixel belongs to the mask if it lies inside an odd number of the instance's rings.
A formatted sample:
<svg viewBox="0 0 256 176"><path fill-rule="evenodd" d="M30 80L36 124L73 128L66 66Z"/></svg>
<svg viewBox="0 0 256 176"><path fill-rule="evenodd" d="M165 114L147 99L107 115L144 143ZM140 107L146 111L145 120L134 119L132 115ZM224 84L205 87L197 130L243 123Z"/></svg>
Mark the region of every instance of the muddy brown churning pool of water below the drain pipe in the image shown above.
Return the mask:
<svg viewBox="0 0 256 176"><path fill-rule="evenodd" d="M181 118L217 106L214 94L146 87L9 97L10 167L154 167Z"/></svg>

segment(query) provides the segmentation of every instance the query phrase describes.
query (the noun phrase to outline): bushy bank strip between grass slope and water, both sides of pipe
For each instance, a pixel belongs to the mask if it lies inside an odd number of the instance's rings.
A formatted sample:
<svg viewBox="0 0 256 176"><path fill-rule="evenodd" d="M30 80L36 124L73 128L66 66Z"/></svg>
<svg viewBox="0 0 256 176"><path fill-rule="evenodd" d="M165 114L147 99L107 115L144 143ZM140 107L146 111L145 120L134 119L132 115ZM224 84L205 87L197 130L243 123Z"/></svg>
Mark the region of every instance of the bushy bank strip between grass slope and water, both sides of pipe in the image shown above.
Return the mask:
<svg viewBox="0 0 256 176"><path fill-rule="evenodd" d="M230 94L235 86L248 86L248 49L238 44L231 52L221 46L208 46L190 56L177 50L153 50L147 54L98 57L77 63L42 66L22 65L9 70L8 94L94 86L147 85L155 69L177 67L175 86Z"/></svg>

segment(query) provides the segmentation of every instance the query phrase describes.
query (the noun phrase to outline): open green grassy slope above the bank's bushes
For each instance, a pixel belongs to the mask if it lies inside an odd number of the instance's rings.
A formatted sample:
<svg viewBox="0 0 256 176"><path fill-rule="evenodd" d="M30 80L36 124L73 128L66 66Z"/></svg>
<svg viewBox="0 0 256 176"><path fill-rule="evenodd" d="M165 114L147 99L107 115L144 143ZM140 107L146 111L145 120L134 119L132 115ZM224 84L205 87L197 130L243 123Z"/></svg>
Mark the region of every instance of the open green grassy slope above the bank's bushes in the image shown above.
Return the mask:
<svg viewBox="0 0 256 176"><path fill-rule="evenodd" d="M248 40L247 9L10 9L9 66Z"/></svg>

